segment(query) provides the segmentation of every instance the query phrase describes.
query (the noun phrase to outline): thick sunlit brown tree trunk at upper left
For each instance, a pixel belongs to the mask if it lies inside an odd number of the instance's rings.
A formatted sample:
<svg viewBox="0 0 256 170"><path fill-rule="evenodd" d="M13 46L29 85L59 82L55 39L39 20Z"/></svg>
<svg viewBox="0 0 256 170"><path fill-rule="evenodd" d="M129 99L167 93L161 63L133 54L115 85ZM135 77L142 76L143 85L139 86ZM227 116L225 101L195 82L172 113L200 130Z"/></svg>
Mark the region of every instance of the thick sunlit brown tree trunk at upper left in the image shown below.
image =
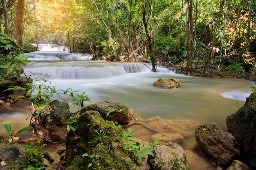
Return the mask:
<svg viewBox="0 0 256 170"><path fill-rule="evenodd" d="M24 15L25 0L18 0L16 19L11 37L16 39L18 45L23 48L22 34L23 34L23 15Z"/></svg>

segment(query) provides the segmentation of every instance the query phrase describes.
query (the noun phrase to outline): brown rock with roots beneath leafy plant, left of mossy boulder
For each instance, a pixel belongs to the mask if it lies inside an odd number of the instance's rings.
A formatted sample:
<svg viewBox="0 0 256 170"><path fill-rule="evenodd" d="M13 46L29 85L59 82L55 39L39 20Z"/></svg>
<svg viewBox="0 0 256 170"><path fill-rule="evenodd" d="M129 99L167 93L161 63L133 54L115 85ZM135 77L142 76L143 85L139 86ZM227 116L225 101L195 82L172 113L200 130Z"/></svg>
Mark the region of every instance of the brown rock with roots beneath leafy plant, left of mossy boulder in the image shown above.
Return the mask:
<svg viewBox="0 0 256 170"><path fill-rule="evenodd" d="M70 118L70 107L66 102L54 100L42 108L39 121L33 124L34 130L47 140L60 142L67 136L66 123Z"/></svg>

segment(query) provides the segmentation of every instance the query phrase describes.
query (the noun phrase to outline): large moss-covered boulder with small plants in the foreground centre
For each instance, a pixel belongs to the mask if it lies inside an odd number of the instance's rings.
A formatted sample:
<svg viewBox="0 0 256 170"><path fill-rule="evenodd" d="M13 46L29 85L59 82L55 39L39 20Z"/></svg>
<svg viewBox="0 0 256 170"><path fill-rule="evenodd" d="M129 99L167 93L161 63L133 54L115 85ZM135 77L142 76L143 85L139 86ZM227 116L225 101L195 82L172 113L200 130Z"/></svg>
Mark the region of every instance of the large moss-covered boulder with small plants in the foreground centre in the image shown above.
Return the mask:
<svg viewBox="0 0 256 170"><path fill-rule="evenodd" d="M98 111L81 113L71 118L67 126L67 170L137 169L124 150L121 130L114 122L105 121Z"/></svg>

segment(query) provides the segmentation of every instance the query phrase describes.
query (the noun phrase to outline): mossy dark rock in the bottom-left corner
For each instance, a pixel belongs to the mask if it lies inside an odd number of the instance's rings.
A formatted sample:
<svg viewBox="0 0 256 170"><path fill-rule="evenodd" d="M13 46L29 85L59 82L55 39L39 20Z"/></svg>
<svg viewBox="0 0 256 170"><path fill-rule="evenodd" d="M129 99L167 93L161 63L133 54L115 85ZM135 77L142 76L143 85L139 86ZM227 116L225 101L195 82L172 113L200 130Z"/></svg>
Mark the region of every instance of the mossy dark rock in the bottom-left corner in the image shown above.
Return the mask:
<svg viewBox="0 0 256 170"><path fill-rule="evenodd" d="M0 169L4 170L23 170L29 165L43 167L40 152L29 145L0 143L0 158L1 165L5 166Z"/></svg>

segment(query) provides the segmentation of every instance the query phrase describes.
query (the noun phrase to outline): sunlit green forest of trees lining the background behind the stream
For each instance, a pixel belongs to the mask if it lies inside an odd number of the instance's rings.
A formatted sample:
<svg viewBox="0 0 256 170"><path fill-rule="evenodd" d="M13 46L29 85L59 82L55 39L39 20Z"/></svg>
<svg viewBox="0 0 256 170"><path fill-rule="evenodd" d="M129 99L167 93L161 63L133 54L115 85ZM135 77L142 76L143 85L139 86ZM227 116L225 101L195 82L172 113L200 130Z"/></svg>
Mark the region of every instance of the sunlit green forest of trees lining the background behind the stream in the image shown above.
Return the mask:
<svg viewBox="0 0 256 170"><path fill-rule="evenodd" d="M94 59L181 63L186 74L255 65L254 0L2 0L0 14L1 33L21 47L60 44Z"/></svg>

